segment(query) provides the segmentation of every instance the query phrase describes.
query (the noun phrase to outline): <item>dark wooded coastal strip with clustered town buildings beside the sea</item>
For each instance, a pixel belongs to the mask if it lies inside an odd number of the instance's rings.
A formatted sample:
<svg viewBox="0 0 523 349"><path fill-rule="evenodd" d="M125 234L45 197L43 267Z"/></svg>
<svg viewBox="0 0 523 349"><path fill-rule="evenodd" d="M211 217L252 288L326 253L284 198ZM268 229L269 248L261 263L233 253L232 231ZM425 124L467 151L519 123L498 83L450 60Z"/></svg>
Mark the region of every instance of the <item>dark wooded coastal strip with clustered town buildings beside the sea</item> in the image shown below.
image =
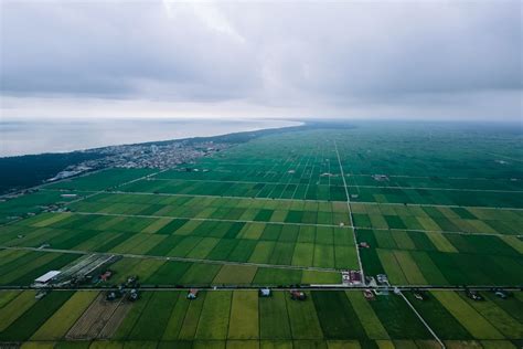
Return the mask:
<svg viewBox="0 0 523 349"><path fill-rule="evenodd" d="M198 152L195 148L205 145L206 147L214 145L220 147L226 145L231 147L235 144L246 142L250 139L269 135L274 133L285 133L307 127L308 123L296 123L296 126L284 127L268 127L264 129L235 131L215 136L198 136L186 137L180 139L154 140L147 142L126 144L118 146L107 146L98 148L89 148L84 150L74 150L66 152L44 152L39 155L24 155L14 157L0 157L0 198L23 194L28 190L34 190L39 187L50 182L68 180L75 177L84 176L95 171L114 168L128 167L125 162L111 162L114 158L127 158L126 161L134 160L134 154L157 152L153 149L169 149L163 159L180 158L180 161L174 163L184 163L192 161L199 157L207 156L207 150ZM192 152L191 156L186 156ZM211 151L212 152L212 151ZM180 154L180 156L178 156ZM149 157L157 157L156 161L145 161L136 168L154 168L154 162L164 162L160 159L162 156L160 151L158 155ZM138 156L139 157L139 156ZM147 155L146 155L147 158ZM177 159L178 160L178 159ZM152 166L148 166L152 163ZM175 166L173 163L163 165L164 167ZM81 170L78 170L81 169ZM68 173L67 173L68 172ZM65 173L65 176L64 176Z"/></svg>

